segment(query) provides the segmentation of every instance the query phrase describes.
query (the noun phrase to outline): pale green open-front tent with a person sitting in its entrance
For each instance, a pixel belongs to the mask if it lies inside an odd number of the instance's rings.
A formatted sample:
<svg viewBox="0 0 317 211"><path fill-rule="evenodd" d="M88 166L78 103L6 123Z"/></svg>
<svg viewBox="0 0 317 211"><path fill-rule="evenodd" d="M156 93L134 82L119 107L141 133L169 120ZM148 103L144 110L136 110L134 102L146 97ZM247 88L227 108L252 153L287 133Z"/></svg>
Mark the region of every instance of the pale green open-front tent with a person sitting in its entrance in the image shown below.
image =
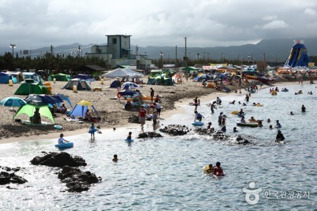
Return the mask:
<svg viewBox="0 0 317 211"><path fill-rule="evenodd" d="M26 104L25 106L20 107L18 112L15 114L14 118L20 114L26 114L28 117L32 117L35 113L35 110L38 110L38 112L41 114L41 116L48 117L49 120L55 124L55 120L53 115L51 115L51 110L49 110L49 106L35 106Z"/></svg>

